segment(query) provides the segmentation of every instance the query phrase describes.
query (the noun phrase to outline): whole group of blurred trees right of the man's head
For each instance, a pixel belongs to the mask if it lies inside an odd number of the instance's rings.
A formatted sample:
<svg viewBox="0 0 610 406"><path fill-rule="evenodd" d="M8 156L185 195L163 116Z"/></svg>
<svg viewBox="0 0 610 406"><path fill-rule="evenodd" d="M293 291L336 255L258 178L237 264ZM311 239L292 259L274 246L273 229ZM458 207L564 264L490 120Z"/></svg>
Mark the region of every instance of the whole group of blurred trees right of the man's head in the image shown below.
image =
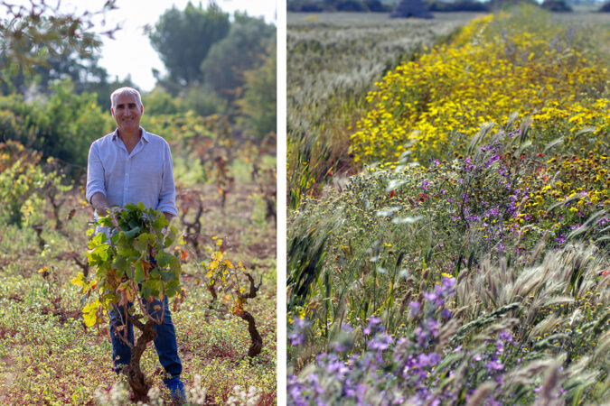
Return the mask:
<svg viewBox="0 0 610 406"><path fill-rule="evenodd" d="M167 69L163 77L155 72L158 85L147 97L155 114L186 108L229 115L260 137L276 131L275 96L268 97L276 92L275 25L189 3L165 12L149 38Z"/></svg>

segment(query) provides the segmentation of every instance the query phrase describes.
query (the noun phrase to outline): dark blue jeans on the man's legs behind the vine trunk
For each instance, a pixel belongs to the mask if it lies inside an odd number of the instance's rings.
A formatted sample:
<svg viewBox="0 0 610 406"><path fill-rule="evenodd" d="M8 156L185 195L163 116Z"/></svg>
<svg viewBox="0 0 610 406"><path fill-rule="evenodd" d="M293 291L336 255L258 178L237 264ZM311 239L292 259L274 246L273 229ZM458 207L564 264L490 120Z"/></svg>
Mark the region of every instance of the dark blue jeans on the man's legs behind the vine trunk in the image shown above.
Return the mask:
<svg viewBox="0 0 610 406"><path fill-rule="evenodd" d="M159 306L159 309L155 310L156 305ZM164 298L163 305L165 308L163 323L155 324L153 326L156 332L154 343L156 354L159 356L159 363L164 367L167 374L170 374L175 378L180 376L183 372L183 364L180 362L180 356L178 356L176 333L167 296ZM131 303L129 306L131 306ZM161 300L155 299L152 303L148 303L146 308L152 317L161 317ZM115 307L109 312L112 359L114 360L115 371L117 372L122 366L129 364L129 360L131 359L131 348L129 348L123 339L118 336L119 334L124 335L125 331L117 331L117 327L122 326L124 323L126 311L127 309L125 307ZM127 339L130 343L134 343L134 326L129 321L127 321Z"/></svg>

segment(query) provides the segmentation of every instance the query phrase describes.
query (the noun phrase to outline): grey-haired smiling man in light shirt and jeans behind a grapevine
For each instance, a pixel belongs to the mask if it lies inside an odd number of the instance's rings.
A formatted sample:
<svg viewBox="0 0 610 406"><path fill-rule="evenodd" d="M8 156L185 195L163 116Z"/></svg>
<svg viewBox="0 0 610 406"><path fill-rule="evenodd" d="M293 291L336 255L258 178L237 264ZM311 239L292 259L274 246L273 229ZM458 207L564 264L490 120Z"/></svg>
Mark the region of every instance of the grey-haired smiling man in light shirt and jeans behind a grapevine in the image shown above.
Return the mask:
<svg viewBox="0 0 610 406"><path fill-rule="evenodd" d="M118 88L110 96L112 116L117 129L91 144L87 166L87 200L97 216L106 216L127 203L144 203L161 210L171 220L178 213L175 206L174 167L169 144L158 135L140 127L144 106L135 88ZM116 219L114 220L116 226ZM160 300L151 307L161 305ZM178 356L174 324L167 297L164 320L155 325L155 349L159 362L169 375L164 383L176 398L184 397L180 374L183 365ZM159 309L159 308L156 308ZM110 311L110 337L115 370L129 364L131 348L118 336L123 318L120 309ZM121 311L125 314L125 309ZM133 344L134 331L127 323L128 339Z"/></svg>

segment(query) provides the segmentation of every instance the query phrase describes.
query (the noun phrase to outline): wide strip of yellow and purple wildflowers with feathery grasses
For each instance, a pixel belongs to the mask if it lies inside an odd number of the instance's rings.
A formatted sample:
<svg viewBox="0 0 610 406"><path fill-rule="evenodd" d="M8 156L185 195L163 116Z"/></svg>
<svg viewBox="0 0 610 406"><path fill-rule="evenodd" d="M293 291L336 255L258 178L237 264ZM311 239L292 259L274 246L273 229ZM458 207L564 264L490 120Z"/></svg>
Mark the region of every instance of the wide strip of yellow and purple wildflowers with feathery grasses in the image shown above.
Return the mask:
<svg viewBox="0 0 610 406"><path fill-rule="evenodd" d="M289 404L610 398L610 19L461 24L314 105L350 160L288 178Z"/></svg>

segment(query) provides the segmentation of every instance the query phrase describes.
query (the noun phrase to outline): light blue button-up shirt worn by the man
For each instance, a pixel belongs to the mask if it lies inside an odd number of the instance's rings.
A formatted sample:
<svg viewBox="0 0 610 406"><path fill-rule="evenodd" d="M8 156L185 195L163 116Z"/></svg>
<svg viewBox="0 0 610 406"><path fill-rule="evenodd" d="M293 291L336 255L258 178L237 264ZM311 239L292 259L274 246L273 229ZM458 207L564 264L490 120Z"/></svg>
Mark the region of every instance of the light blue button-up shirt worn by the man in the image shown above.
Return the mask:
<svg viewBox="0 0 610 406"><path fill-rule="evenodd" d="M177 216L174 164L169 144L142 129L140 141L131 153L117 131L91 144L87 163L87 201L101 192L110 206L124 208L142 202Z"/></svg>

